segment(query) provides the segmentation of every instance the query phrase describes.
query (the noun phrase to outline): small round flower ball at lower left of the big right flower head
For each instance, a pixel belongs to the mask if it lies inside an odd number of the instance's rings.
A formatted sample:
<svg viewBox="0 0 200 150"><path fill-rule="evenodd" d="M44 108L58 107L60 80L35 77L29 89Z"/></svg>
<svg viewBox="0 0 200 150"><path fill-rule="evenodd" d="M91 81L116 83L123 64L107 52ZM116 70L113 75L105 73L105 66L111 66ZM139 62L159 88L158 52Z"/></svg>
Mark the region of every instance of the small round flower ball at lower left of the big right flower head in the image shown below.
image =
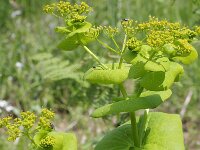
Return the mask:
<svg viewBox="0 0 200 150"><path fill-rule="evenodd" d="M137 48L140 47L141 45L142 45L142 42L136 39L135 37L130 38L126 42L126 46L128 47L129 50L132 50L132 51L137 51L138 50Z"/></svg>

